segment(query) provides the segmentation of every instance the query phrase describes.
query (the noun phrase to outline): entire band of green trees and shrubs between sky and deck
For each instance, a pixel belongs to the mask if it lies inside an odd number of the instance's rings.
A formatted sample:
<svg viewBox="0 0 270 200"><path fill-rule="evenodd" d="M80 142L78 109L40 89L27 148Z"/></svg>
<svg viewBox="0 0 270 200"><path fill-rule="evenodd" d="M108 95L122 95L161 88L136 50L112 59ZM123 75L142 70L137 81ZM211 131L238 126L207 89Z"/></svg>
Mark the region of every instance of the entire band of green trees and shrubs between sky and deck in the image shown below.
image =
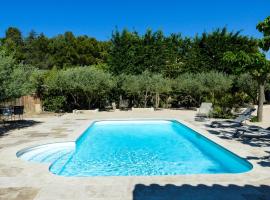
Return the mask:
<svg viewBox="0 0 270 200"><path fill-rule="evenodd" d="M258 24L267 50L269 19ZM1 100L35 93L48 111L214 104L215 117L258 99L270 64L258 41L226 28L194 38L162 31L114 31L110 41L66 32L53 38L9 28L0 40Z"/></svg>

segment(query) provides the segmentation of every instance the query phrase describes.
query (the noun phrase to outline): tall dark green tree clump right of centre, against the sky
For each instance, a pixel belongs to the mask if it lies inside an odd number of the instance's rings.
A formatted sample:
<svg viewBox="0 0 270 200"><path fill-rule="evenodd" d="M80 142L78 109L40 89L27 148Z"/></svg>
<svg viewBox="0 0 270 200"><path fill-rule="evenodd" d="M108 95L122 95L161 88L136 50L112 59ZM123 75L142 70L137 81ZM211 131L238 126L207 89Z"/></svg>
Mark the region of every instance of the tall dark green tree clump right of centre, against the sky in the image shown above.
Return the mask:
<svg viewBox="0 0 270 200"><path fill-rule="evenodd" d="M232 74L233 66L223 61L223 54L240 50L255 53L256 40L240 35L239 31L228 32L226 28L203 33L192 40L189 52L184 57L183 71L197 73L215 70Z"/></svg>

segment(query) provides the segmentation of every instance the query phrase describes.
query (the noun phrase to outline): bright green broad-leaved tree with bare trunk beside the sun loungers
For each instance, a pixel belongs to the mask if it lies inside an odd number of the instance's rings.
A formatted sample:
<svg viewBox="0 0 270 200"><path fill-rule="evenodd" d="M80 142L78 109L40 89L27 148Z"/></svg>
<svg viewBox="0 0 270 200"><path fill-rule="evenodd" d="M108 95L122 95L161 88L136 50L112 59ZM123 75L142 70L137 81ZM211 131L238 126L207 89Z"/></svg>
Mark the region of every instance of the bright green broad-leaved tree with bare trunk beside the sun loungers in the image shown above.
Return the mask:
<svg viewBox="0 0 270 200"><path fill-rule="evenodd" d="M265 55L261 52L246 53L239 51L236 53L226 52L224 61L235 66L235 73L241 74L249 72L258 83L258 121L262 121L264 91L267 80L269 79L270 63L266 60Z"/></svg>

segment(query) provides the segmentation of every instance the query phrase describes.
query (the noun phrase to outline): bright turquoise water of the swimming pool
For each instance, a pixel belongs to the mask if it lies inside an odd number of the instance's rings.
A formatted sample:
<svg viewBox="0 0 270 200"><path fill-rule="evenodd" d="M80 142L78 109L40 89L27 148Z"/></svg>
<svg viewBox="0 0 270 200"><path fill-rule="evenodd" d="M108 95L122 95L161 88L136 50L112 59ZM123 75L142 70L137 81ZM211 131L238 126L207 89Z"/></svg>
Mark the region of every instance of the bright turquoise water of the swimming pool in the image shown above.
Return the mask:
<svg viewBox="0 0 270 200"><path fill-rule="evenodd" d="M76 140L73 150L59 151L59 156L49 156L49 162L50 171L61 176L243 173L252 168L175 120L97 121Z"/></svg>

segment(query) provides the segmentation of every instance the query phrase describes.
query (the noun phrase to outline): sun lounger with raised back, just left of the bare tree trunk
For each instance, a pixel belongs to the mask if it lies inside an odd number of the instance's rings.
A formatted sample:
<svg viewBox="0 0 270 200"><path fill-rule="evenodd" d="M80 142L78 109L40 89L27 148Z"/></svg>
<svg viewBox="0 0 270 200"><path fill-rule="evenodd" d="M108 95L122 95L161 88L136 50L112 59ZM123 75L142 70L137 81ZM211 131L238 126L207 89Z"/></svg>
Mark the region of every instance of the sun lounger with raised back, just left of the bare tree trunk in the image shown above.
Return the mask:
<svg viewBox="0 0 270 200"><path fill-rule="evenodd" d="M239 127L242 126L243 122L251 118L251 114L255 111L255 108L247 108L242 114L236 117L233 120L225 120L225 121L213 121L210 126L212 128L220 128L220 127Z"/></svg>

